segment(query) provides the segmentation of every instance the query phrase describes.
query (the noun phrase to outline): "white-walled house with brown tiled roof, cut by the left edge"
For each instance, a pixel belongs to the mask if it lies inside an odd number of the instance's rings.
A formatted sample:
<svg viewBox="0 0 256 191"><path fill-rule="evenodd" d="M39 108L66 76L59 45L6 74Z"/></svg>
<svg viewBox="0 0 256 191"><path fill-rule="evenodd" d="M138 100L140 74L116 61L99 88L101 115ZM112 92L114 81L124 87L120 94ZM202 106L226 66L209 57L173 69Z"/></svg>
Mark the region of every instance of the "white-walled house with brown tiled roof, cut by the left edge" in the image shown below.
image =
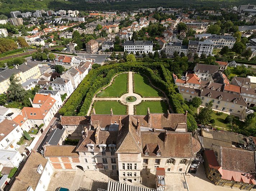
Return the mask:
<svg viewBox="0 0 256 191"><path fill-rule="evenodd" d="M19 148L17 142L22 137L22 129L13 120L0 120L0 149L15 150Z"/></svg>

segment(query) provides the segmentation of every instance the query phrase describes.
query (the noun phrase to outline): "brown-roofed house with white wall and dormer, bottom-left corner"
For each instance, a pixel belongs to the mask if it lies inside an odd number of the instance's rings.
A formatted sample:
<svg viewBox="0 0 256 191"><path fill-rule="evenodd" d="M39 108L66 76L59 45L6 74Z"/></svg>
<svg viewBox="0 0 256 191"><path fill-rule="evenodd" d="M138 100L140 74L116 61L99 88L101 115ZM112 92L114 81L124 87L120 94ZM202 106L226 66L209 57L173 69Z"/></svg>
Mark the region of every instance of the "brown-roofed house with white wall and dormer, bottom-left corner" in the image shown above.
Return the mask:
<svg viewBox="0 0 256 191"><path fill-rule="evenodd" d="M53 174L49 161L41 154L32 151L22 169L15 177L10 191L46 191Z"/></svg>

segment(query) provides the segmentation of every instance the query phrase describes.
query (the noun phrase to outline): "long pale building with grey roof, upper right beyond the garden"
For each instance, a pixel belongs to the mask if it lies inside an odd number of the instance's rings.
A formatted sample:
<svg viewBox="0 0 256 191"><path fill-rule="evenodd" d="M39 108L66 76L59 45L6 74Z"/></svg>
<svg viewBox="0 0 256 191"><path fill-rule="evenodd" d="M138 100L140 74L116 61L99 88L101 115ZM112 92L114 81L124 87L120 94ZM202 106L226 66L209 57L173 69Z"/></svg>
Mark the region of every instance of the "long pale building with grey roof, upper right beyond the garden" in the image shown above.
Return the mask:
<svg viewBox="0 0 256 191"><path fill-rule="evenodd" d="M236 39L233 36L224 36L224 35L216 35L213 34L209 40L214 43L215 48L223 48L227 46L228 48L233 48Z"/></svg>

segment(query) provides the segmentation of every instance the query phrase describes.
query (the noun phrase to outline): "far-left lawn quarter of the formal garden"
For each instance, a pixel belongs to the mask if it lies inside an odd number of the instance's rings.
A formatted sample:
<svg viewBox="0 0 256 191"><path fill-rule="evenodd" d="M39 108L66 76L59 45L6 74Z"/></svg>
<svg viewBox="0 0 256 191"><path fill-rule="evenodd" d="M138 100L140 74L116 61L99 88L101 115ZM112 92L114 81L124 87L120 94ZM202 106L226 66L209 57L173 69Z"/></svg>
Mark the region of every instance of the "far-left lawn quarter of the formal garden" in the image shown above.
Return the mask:
<svg viewBox="0 0 256 191"><path fill-rule="evenodd" d="M119 74L115 77L113 83L103 92L100 92L98 97L121 97L127 93L127 73Z"/></svg>

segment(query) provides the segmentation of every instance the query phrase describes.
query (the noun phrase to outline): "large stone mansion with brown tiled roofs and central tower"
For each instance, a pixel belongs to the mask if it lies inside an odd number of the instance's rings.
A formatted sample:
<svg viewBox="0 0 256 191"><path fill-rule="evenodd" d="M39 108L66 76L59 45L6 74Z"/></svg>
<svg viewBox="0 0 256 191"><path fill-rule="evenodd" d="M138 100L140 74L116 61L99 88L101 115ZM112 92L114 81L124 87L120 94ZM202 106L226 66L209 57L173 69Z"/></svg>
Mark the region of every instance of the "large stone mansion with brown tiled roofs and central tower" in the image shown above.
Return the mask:
<svg viewBox="0 0 256 191"><path fill-rule="evenodd" d="M120 182L140 182L141 174L187 173L199 142L187 132L186 114L63 116L67 130L83 125L76 146L46 146L44 157L55 169L107 171ZM70 125L69 125L70 124ZM186 149L183 149L186 148Z"/></svg>

